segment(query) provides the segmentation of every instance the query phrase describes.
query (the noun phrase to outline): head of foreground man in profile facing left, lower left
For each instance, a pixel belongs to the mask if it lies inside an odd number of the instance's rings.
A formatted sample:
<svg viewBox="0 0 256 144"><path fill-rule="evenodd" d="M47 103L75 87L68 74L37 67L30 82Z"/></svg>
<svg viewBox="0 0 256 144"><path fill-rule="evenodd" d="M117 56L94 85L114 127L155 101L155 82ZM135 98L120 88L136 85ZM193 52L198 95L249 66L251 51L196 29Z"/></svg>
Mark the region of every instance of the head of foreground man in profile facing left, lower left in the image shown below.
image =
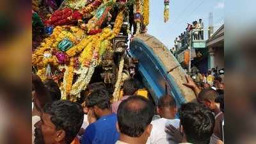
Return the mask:
<svg viewBox="0 0 256 144"><path fill-rule="evenodd" d="M71 143L83 124L80 104L57 100L44 107L41 120L35 124L35 144Z"/></svg>

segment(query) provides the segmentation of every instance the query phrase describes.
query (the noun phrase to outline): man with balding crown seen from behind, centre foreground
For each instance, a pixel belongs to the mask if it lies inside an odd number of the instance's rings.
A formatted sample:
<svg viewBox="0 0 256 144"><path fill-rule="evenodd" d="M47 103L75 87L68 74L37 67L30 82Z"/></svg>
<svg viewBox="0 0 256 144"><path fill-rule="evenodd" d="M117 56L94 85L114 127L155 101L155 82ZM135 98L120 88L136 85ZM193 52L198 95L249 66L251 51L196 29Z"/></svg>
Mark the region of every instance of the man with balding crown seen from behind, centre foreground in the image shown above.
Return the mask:
<svg viewBox="0 0 256 144"><path fill-rule="evenodd" d="M145 144L152 130L154 107L145 97L129 97L121 102L117 119L120 139L116 144Z"/></svg>

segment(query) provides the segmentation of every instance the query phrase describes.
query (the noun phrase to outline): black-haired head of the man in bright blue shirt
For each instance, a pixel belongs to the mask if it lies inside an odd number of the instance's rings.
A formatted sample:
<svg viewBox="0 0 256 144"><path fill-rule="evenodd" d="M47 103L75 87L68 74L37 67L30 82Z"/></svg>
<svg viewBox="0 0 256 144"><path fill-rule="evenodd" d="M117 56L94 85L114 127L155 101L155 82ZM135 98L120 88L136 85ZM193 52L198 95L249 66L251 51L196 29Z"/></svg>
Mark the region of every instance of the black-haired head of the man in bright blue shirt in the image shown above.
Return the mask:
<svg viewBox="0 0 256 144"><path fill-rule="evenodd" d="M86 107L92 110L93 114L99 119L102 112L110 108L110 97L106 88L97 88L85 99Z"/></svg>

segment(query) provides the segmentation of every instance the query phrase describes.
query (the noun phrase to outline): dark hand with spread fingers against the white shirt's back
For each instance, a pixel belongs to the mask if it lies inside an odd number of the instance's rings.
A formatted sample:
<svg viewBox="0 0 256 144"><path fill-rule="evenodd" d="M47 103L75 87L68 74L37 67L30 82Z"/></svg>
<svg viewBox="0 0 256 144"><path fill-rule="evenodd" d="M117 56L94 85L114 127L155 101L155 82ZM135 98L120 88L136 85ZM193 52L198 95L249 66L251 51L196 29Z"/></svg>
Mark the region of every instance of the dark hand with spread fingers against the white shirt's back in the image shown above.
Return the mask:
<svg viewBox="0 0 256 144"><path fill-rule="evenodd" d="M167 134L170 134L168 141L174 141L176 143L182 143L182 134L179 129L176 129L173 125L166 125L164 130Z"/></svg>

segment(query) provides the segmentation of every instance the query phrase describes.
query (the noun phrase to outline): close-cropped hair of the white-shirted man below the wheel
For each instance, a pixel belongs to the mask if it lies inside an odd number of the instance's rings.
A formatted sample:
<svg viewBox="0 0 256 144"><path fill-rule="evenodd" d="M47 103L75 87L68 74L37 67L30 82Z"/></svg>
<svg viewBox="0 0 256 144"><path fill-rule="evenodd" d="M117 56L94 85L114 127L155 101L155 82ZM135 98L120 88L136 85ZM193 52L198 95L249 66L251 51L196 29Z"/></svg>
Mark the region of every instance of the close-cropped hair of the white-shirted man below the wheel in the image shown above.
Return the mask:
<svg viewBox="0 0 256 144"><path fill-rule="evenodd" d="M159 98L158 100L158 107L159 108L164 108L164 107L176 107L176 101L172 97L172 95L163 95Z"/></svg>

